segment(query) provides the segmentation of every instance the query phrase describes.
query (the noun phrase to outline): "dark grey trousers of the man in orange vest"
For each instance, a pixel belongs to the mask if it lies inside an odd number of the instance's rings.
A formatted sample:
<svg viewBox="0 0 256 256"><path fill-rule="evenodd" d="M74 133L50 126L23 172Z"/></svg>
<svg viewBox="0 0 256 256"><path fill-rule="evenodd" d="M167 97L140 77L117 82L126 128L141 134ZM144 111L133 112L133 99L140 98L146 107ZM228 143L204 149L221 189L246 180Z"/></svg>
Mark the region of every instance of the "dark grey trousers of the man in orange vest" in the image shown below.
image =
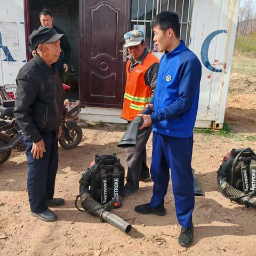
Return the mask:
<svg viewBox="0 0 256 256"><path fill-rule="evenodd" d="M135 191L139 189L139 181L150 177L147 166L146 144L152 127L147 127L138 132L135 147L126 148L127 177L125 187Z"/></svg>

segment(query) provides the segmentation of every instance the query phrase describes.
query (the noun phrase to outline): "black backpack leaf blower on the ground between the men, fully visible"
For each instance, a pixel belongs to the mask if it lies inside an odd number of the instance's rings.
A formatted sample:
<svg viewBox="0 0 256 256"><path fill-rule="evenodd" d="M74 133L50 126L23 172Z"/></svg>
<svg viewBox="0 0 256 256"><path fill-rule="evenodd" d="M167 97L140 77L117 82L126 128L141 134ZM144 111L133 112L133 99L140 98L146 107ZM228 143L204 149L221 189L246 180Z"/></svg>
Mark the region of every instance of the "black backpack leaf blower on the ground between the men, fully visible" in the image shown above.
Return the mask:
<svg viewBox="0 0 256 256"><path fill-rule="evenodd" d="M124 167L116 155L96 155L95 163L82 175L79 181L79 195L76 208L106 221L124 233L129 233L132 226L117 215L110 213L115 207L122 206L124 189ZM78 198L84 210L77 205Z"/></svg>

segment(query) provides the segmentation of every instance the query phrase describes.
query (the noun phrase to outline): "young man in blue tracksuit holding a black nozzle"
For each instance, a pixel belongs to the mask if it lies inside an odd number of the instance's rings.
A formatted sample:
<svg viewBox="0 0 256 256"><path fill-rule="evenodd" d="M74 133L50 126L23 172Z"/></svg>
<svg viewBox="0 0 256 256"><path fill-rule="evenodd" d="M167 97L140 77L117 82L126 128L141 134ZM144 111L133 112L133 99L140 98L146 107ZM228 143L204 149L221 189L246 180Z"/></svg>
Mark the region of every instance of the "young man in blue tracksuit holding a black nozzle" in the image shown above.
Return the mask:
<svg viewBox="0 0 256 256"><path fill-rule="evenodd" d="M182 227L178 242L186 247L193 243L195 198L191 158L202 69L196 55L180 41L177 13L161 12L150 26L158 51L165 52L159 66L155 97L147 106L154 107L154 113L139 115L144 121L140 129L153 124L150 172L154 187L150 203L138 205L134 210L140 214L165 215L164 196L170 168L176 215Z"/></svg>

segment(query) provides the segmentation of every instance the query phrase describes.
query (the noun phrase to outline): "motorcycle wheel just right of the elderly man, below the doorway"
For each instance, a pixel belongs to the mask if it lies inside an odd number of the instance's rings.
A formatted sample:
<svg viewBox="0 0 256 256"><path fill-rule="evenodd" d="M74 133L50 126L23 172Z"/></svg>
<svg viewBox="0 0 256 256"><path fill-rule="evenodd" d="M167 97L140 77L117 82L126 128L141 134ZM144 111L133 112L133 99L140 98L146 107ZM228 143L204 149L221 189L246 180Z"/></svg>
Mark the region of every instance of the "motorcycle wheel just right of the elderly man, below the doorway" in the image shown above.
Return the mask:
<svg viewBox="0 0 256 256"><path fill-rule="evenodd" d="M62 135L59 143L62 148L72 149L81 142L82 138L82 129L77 124L69 124L68 130L62 129Z"/></svg>

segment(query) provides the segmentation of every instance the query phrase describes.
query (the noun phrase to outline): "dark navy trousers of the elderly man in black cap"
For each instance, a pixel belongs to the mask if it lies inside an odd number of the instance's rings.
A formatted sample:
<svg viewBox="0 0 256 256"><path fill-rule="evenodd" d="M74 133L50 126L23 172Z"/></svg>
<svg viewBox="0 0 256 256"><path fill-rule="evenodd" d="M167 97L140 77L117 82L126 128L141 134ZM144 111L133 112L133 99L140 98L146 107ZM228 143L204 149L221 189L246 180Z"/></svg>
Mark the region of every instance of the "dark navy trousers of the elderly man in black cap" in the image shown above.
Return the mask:
<svg viewBox="0 0 256 256"><path fill-rule="evenodd" d="M48 209L46 199L53 198L58 169L58 131L44 131L41 136L46 152L38 160L31 153L33 142L24 136L28 158L28 198L31 212L34 213Z"/></svg>

